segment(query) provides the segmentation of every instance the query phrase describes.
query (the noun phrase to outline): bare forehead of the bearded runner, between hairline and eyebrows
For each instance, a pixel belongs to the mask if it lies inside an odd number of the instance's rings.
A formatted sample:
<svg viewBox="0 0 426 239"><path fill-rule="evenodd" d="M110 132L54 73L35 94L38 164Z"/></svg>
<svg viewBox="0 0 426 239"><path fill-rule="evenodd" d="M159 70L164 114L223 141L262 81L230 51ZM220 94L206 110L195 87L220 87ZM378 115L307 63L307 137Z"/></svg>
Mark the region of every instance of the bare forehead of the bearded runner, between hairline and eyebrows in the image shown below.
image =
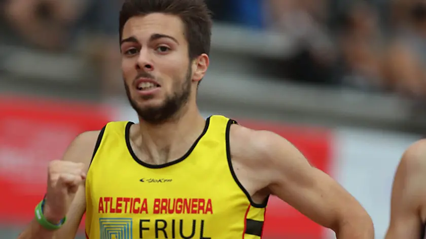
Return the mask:
<svg viewBox="0 0 426 239"><path fill-rule="evenodd" d="M123 38L135 36L149 38L152 34L170 35L176 39L183 39L184 23L178 16L163 13L151 13L145 16L130 18L123 28Z"/></svg>

